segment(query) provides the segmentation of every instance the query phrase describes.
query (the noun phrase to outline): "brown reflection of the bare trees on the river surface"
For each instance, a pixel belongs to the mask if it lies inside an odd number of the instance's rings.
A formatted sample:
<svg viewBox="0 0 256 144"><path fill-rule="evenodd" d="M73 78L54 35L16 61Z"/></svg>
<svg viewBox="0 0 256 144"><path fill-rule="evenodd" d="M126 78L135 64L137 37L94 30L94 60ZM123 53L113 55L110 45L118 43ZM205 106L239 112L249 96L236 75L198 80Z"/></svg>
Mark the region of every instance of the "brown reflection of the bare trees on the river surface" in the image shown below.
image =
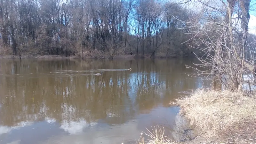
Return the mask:
<svg viewBox="0 0 256 144"><path fill-rule="evenodd" d="M138 120L140 114L150 113L159 106L168 107L171 100L183 95L180 92L202 86L201 80L185 74L193 73L185 67L192 62L166 59L1 60L2 131L4 127L24 122L46 120L49 124L59 123L68 133L80 133L83 127L99 123L123 125ZM98 69L105 70L103 75L93 75L99 73Z"/></svg>

